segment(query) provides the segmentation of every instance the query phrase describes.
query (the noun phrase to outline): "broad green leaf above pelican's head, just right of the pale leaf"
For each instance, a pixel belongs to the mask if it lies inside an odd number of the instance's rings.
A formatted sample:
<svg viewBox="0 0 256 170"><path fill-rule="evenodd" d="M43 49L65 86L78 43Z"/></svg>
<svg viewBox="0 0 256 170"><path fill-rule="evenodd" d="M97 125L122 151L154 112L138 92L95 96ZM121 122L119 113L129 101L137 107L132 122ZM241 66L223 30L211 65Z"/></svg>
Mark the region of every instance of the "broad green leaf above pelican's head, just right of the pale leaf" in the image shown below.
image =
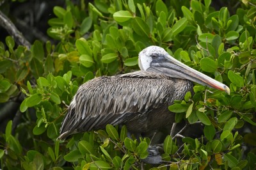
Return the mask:
<svg viewBox="0 0 256 170"><path fill-rule="evenodd" d="M150 35L150 29L148 24L139 17L135 17L134 19L132 19L132 29L137 35L147 37L149 37Z"/></svg>

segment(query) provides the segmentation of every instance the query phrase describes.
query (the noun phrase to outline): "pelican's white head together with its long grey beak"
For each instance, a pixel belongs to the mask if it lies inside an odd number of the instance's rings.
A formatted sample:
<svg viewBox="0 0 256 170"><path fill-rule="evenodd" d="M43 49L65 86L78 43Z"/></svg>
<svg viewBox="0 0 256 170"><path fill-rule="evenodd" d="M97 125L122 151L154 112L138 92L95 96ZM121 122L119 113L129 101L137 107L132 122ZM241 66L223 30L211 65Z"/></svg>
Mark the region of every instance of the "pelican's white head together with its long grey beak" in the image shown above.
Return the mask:
<svg viewBox="0 0 256 170"><path fill-rule="evenodd" d="M226 91L228 94L230 93L230 89L225 84L184 65L158 46L150 46L140 52L139 66L144 71L163 73L176 79L187 79L210 88Z"/></svg>

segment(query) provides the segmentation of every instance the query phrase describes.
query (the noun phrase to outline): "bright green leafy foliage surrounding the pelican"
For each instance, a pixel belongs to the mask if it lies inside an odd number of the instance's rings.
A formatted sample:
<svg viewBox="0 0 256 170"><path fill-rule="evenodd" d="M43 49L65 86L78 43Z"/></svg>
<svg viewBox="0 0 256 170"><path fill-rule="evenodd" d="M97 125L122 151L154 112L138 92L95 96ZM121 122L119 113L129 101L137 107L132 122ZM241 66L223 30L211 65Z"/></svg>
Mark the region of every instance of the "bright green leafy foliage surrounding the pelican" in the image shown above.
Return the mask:
<svg viewBox="0 0 256 170"><path fill-rule="evenodd" d="M175 121L204 124L199 139L167 135L163 164L145 169L254 169L256 2L230 14L201 1L81 1L55 6L47 34L31 49L7 36L0 43L0 102L19 98L21 119L1 134L2 169L140 169L150 139L127 138L125 127L56 141L79 85L100 75L138 70L138 53L159 45L174 58L230 87L230 95L196 84L175 101ZM20 99L21 98L21 99ZM15 129L15 130L14 130Z"/></svg>

